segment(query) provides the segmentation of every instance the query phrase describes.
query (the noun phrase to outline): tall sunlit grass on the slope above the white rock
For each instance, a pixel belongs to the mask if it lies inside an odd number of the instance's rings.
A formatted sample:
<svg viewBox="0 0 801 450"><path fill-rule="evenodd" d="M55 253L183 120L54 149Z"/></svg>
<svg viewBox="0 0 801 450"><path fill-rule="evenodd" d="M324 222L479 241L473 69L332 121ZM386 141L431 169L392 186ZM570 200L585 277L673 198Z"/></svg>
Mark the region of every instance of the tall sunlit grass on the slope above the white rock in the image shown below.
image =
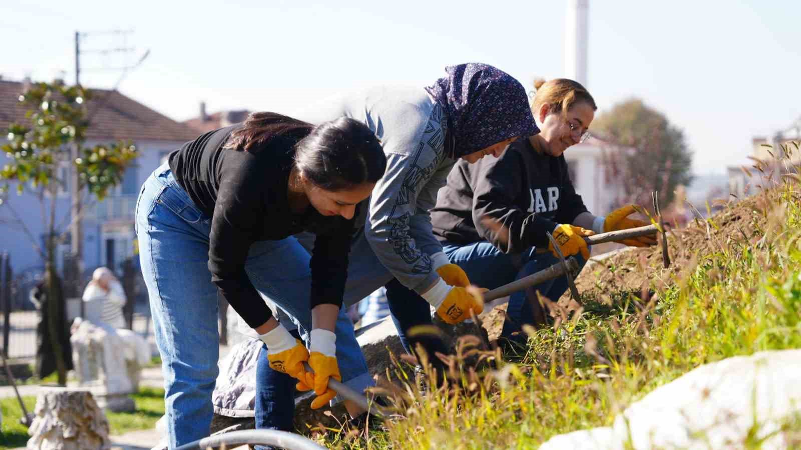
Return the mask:
<svg viewBox="0 0 801 450"><path fill-rule="evenodd" d="M536 448L611 424L631 402L702 364L801 348L798 187L745 203L753 208L740 227L753 239L713 235L712 250L689 249L694 256L678 273L651 283L649 302L625 292L608 292L613 304L585 299L578 320L529 330L529 348L514 363L456 373L466 389L398 391L396 419L384 431L318 430L316 438L336 448ZM801 422L791 427L801 431Z"/></svg>

